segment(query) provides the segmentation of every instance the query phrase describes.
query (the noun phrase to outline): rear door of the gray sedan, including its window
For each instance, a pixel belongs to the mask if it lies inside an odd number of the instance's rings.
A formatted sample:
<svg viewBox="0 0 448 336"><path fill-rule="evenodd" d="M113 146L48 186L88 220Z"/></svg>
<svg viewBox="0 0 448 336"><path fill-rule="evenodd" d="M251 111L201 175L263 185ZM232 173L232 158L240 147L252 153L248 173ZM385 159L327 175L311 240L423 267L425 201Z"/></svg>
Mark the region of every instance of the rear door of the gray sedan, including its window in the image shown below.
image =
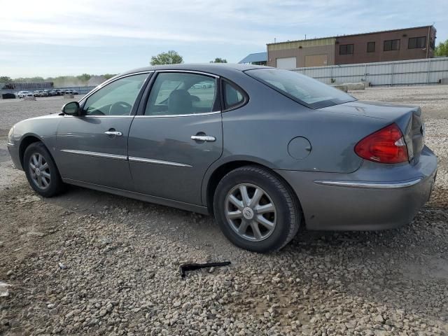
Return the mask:
<svg viewBox="0 0 448 336"><path fill-rule="evenodd" d="M129 165L139 193L201 205L207 168L223 152L218 78L193 71L155 74L130 128Z"/></svg>

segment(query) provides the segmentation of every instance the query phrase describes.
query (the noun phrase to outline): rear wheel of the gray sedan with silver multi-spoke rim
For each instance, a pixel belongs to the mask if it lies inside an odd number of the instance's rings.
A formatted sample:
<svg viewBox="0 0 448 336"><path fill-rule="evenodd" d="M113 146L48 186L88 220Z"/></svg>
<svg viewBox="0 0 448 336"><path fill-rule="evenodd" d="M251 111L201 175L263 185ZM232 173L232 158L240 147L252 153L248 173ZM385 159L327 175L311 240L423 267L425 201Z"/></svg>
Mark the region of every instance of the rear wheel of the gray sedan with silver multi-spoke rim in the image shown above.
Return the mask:
<svg viewBox="0 0 448 336"><path fill-rule="evenodd" d="M302 221L293 190L269 169L255 165L232 170L221 179L214 195L214 215L233 244L258 253L283 248Z"/></svg>

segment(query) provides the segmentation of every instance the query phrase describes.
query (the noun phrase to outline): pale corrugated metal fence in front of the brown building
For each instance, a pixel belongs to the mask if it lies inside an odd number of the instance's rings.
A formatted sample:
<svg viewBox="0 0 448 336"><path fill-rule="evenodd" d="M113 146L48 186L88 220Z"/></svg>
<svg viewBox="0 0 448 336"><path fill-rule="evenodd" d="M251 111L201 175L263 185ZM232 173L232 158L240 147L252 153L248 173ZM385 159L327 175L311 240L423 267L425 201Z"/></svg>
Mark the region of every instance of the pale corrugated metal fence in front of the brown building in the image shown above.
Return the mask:
<svg viewBox="0 0 448 336"><path fill-rule="evenodd" d="M413 59L409 61L378 62L314 66L292 69L316 78L323 83L353 83L365 80L370 85L437 84L448 78L448 57Z"/></svg>

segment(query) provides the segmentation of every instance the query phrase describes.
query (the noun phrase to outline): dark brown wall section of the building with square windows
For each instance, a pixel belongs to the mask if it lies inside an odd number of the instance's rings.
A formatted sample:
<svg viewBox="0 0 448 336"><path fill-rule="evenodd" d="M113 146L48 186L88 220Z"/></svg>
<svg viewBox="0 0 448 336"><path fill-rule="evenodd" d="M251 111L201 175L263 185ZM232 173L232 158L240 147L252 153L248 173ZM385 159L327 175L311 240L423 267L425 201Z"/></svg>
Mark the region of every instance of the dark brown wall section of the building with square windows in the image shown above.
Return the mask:
<svg viewBox="0 0 448 336"><path fill-rule="evenodd" d="M426 45L430 45L431 40L435 41L434 27L400 29L352 36L337 36L335 42L335 64L387 62L433 57L433 50L431 48L429 48L429 50L426 48L424 50L423 48L408 48L409 38L421 36L426 36ZM384 51L384 41L395 39L400 40L400 49ZM374 52L367 52L367 42L375 43ZM339 55L340 45L346 44L353 44L353 54Z"/></svg>

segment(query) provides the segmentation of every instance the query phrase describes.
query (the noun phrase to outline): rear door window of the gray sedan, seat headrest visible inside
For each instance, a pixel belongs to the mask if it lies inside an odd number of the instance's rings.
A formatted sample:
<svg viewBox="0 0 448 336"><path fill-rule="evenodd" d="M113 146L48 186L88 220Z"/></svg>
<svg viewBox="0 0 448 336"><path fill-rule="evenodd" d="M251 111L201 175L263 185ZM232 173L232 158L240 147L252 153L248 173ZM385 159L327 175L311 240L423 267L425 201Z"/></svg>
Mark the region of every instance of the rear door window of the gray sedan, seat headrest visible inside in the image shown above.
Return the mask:
<svg viewBox="0 0 448 336"><path fill-rule="evenodd" d="M149 94L146 116L179 116L214 110L216 79L197 73L159 73Z"/></svg>

